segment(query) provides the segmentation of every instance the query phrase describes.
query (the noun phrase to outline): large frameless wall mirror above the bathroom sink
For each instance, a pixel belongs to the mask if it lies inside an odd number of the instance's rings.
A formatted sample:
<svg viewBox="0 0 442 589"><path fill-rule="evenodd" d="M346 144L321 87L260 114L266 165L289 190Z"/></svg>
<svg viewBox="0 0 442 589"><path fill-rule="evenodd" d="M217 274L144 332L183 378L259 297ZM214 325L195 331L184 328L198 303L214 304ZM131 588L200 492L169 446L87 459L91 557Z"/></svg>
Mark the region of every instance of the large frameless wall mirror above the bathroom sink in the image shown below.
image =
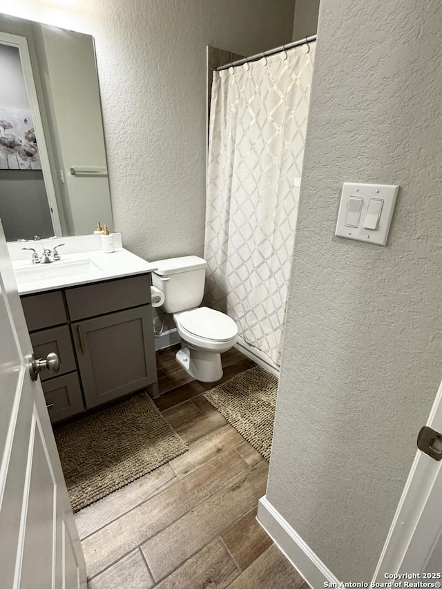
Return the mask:
<svg viewBox="0 0 442 589"><path fill-rule="evenodd" d="M0 80L6 239L112 230L93 37L0 15Z"/></svg>

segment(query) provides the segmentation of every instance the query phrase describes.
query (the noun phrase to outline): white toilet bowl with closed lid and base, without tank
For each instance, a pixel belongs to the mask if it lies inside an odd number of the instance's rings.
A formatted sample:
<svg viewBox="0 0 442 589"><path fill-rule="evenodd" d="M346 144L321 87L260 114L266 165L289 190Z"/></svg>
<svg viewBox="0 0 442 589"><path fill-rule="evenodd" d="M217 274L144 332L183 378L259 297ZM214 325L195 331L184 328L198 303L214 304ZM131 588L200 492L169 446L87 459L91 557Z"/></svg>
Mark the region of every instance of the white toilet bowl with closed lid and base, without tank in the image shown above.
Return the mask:
<svg viewBox="0 0 442 589"><path fill-rule="evenodd" d="M174 313L182 340L177 352L180 364L195 380L214 383L222 377L221 354L238 340L238 327L229 316L208 307Z"/></svg>

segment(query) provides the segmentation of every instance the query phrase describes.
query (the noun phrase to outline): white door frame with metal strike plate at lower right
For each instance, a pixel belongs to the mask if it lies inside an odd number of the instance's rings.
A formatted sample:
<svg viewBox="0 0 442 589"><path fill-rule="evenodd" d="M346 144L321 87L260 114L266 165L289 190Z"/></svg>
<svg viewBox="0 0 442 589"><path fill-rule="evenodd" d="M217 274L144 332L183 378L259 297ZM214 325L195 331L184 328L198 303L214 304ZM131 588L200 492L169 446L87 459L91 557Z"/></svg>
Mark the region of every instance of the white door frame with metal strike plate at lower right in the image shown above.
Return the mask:
<svg viewBox="0 0 442 589"><path fill-rule="evenodd" d="M416 438L420 425L416 424ZM427 425L435 432L442 433L442 383ZM442 441L433 439L433 454L441 458ZM441 497L442 460L436 461L418 450L385 541L374 581L392 580L387 575L395 573L419 574L417 580L427 583L442 581ZM416 582L416 579L413 581Z"/></svg>

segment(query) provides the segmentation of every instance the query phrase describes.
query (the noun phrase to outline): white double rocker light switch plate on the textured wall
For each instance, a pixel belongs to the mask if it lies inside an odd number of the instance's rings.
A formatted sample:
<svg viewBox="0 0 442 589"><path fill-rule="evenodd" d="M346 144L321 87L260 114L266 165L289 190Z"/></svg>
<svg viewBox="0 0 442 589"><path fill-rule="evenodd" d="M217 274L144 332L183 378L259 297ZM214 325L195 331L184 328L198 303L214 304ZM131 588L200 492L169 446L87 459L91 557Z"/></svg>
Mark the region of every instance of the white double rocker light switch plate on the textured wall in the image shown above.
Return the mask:
<svg viewBox="0 0 442 589"><path fill-rule="evenodd" d="M399 186L390 184L345 182L335 235L376 245L387 244L398 189Z"/></svg>

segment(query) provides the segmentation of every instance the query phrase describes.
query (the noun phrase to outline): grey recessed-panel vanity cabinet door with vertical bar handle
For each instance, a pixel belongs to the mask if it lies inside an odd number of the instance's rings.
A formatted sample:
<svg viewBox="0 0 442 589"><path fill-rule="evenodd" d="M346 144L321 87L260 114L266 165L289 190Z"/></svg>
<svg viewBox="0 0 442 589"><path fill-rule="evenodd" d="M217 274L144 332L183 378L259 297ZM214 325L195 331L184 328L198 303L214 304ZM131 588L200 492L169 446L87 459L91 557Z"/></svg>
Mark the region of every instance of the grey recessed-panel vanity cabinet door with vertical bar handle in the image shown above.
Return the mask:
<svg viewBox="0 0 442 589"><path fill-rule="evenodd" d="M156 382L150 305L73 323L87 407Z"/></svg>

